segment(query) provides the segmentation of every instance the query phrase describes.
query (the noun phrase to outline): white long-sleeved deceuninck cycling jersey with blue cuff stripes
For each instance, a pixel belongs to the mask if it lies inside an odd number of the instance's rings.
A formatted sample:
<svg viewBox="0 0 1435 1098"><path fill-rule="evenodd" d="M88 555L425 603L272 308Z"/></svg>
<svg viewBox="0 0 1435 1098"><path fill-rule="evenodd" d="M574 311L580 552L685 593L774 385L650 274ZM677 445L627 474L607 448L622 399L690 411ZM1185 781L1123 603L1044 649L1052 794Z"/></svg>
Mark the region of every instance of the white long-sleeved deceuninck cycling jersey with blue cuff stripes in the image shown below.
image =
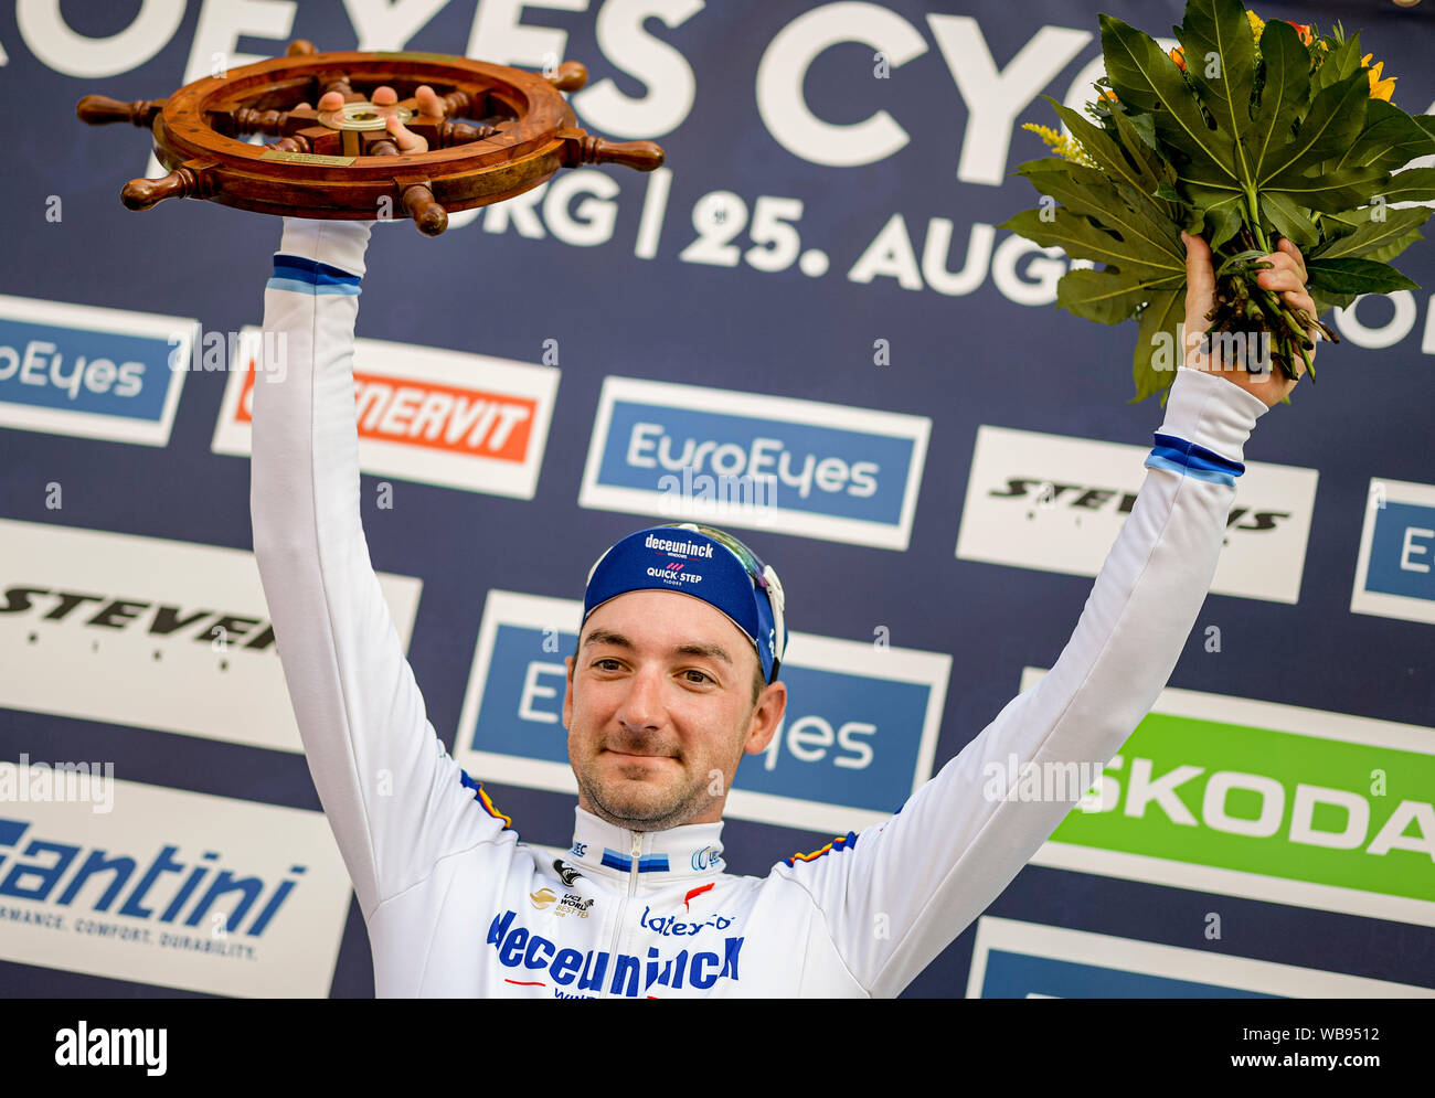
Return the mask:
<svg viewBox="0 0 1435 1098"><path fill-rule="evenodd" d="M555 861L443 749L369 561L353 379L367 240L364 224L286 221L264 327L287 339L287 376L255 379L253 520L376 993L895 996L1079 798L993 797L987 764L1099 771L1165 686L1266 405L1180 369L1135 507L1060 657L897 815L738 877L723 873L722 824L640 832L578 810Z"/></svg>

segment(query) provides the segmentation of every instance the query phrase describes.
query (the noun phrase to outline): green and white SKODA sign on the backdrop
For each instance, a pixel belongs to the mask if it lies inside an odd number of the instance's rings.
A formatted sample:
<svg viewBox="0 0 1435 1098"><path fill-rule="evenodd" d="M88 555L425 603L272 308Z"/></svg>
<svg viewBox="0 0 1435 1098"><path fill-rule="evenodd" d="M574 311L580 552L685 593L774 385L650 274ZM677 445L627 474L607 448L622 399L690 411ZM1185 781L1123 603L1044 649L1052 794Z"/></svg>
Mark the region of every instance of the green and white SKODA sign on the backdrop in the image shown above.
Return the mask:
<svg viewBox="0 0 1435 1098"><path fill-rule="evenodd" d="M1435 729L1168 688L1032 863L1435 926L1432 798Z"/></svg>

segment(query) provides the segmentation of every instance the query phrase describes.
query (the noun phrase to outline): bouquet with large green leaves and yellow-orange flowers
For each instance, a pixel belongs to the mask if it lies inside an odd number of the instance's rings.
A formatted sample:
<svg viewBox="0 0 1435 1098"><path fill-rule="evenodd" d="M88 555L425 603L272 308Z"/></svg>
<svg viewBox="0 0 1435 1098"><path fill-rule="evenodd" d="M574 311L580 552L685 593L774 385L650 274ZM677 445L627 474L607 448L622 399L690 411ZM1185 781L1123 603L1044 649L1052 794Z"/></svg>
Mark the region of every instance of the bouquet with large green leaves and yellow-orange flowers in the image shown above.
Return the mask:
<svg viewBox="0 0 1435 1098"><path fill-rule="evenodd" d="M1395 106L1395 78L1370 66L1359 32L1267 23L1240 0L1188 0L1174 30L1168 55L1101 16L1099 95L1086 116L1046 96L1069 135L1025 126L1058 155L1017 168L1046 198L1002 225L1091 261L1062 277L1059 307L1139 322L1132 403L1164 393L1182 359L1182 230L1205 237L1215 263L1205 334L1248 337L1294 377L1296 362L1310 366L1310 329L1339 340L1256 281L1270 266L1258 257L1277 237L1294 243L1322 311L1419 288L1388 260L1422 240L1432 211L1392 207L1435 200L1435 168L1399 171L1435 154L1435 116Z"/></svg>

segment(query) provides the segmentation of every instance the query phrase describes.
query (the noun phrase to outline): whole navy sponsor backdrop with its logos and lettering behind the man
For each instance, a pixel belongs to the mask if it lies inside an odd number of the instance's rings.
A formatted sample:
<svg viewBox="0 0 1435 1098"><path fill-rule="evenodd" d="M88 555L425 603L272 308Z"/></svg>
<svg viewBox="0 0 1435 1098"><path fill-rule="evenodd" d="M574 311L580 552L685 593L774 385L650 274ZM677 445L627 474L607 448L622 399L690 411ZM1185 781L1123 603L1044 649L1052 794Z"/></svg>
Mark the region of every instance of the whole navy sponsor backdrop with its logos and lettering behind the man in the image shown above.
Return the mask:
<svg viewBox="0 0 1435 1098"><path fill-rule="evenodd" d="M1101 6L1149 32L1181 9ZM126 212L156 165L132 128L82 126L80 95L162 98L293 37L577 59L584 125L663 142L659 172L565 172L438 240L376 228L364 525L445 745L565 847L583 580L706 499L788 591L791 706L725 832L763 874L895 810L1052 666L1141 487L1162 412L1128 403L1134 326L1058 311L1066 257L996 228L1035 204L1012 171L1045 155L1020 129L1053 121L1039 96L1101 72L1096 11L0 10L0 85L29 105L0 181L0 993L373 989L251 554L280 224ZM1435 4L1261 14L1363 27L1396 102L1435 109ZM908 995L1435 990L1435 248L1401 267L1429 288L1340 313L1319 386L1258 423L1152 713Z"/></svg>

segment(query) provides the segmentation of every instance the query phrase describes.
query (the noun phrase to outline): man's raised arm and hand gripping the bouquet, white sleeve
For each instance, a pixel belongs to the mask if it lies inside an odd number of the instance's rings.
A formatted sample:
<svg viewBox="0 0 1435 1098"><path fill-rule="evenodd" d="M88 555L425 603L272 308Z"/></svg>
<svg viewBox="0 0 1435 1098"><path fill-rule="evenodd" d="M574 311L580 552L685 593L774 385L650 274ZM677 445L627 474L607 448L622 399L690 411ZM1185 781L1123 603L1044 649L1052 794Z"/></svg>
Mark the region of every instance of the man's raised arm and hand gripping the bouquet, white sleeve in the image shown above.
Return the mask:
<svg viewBox="0 0 1435 1098"><path fill-rule="evenodd" d="M1187 327L1195 333L1204 330L1214 288L1210 267L1210 250L1192 237ZM1300 253L1283 241L1263 284L1314 316L1303 274ZM1015 792L1003 799L993 795L990 775L1012 774L1016 785L1032 772L1027 766L1038 775L1046 766L1053 775L1099 772L1171 677L1215 574L1246 439L1294 385L1228 367L1227 376L1207 372L1215 367L1195 347L1187 363L1171 386L1137 502L1052 670L895 817L827 855L775 870L809 893L848 970L874 996L901 992L1000 894L1085 792L1072 781L1059 799Z"/></svg>

